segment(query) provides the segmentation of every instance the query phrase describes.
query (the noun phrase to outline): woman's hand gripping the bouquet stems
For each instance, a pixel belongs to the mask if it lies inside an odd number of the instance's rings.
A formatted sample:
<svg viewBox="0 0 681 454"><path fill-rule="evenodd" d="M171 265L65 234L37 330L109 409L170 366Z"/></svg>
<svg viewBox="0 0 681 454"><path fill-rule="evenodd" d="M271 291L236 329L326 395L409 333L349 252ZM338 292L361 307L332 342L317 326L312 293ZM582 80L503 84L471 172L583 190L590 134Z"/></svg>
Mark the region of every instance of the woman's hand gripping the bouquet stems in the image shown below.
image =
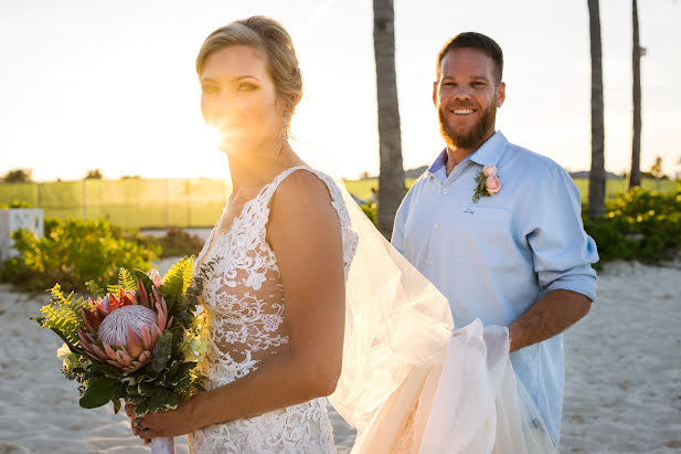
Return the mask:
<svg viewBox="0 0 681 454"><path fill-rule="evenodd" d="M190 401L181 401L175 410L160 411L158 413L147 413L141 418L135 416L134 405L126 403L126 414L131 420L135 435L145 440L158 436L184 435L196 427L192 425L193 419L190 415Z"/></svg>

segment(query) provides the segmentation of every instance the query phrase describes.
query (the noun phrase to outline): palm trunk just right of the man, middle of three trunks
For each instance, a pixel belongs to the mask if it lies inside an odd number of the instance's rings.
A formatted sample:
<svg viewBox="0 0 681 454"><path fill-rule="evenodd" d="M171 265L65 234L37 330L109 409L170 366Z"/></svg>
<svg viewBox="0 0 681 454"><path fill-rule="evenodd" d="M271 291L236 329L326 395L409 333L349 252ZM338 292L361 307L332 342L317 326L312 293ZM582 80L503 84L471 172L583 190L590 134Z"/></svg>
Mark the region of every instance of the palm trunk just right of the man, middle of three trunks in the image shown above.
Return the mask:
<svg viewBox="0 0 681 454"><path fill-rule="evenodd" d="M587 0L592 54L592 169L588 173L588 218L605 214L605 125L603 120L603 52L598 0Z"/></svg>

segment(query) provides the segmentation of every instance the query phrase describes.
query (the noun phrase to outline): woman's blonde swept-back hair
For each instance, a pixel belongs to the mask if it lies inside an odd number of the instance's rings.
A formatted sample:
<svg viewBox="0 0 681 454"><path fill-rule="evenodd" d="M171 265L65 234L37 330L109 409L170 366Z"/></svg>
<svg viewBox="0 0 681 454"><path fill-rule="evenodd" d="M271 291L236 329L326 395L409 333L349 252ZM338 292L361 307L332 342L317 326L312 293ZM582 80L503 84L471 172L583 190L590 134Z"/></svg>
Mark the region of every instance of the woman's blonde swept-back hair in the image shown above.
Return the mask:
<svg viewBox="0 0 681 454"><path fill-rule="evenodd" d="M277 95L290 106L302 96L302 75L290 35L279 22L264 15L240 19L211 33L196 56L196 74L201 76L208 57L231 45L247 45L267 55L267 68Z"/></svg>

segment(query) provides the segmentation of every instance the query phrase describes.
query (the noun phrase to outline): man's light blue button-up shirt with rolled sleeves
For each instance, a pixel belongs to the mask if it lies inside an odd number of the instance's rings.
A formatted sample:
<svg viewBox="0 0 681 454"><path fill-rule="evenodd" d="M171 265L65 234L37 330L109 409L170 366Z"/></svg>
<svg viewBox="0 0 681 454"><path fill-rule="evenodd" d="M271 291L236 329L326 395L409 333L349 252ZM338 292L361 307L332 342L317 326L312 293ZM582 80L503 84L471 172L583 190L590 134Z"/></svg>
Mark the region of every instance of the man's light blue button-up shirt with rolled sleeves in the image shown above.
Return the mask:
<svg viewBox="0 0 681 454"><path fill-rule="evenodd" d="M446 172L444 150L397 211L393 245L449 299L456 326L509 326L547 292L596 298L596 244L584 232L579 191L551 159L497 131ZM472 201L476 175L498 168L501 190ZM511 353L518 378L558 443L563 336Z"/></svg>

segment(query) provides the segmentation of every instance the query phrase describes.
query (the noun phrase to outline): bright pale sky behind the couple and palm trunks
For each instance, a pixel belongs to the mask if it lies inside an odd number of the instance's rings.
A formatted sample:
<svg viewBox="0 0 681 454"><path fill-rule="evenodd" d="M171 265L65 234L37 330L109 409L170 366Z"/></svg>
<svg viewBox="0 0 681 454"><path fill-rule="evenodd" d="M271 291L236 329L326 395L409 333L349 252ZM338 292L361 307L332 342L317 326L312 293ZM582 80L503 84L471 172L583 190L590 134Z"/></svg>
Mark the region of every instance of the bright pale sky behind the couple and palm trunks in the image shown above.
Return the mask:
<svg viewBox="0 0 681 454"><path fill-rule="evenodd" d="M586 1L395 0L397 92L406 169L443 149L432 103L435 59L462 31L504 53L497 128L568 170L589 168ZM196 52L214 29L265 14L292 36L305 81L292 118L300 147L337 173L379 170L373 13L369 0L0 0L0 175L35 180L228 177L203 125ZM606 169L631 159L631 2L602 0ZM681 6L639 1L641 169L681 159ZM297 147L294 142L294 147Z"/></svg>

